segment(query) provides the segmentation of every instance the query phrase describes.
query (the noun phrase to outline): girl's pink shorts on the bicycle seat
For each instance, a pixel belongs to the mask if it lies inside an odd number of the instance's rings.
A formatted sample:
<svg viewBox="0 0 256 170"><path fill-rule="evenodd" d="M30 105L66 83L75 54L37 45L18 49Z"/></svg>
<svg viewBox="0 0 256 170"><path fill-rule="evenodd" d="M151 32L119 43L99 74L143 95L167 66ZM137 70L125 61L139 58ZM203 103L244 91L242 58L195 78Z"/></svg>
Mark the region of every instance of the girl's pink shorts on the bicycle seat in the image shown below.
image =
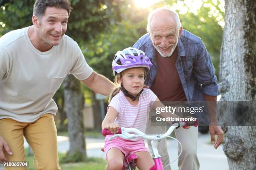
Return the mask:
<svg viewBox="0 0 256 170"><path fill-rule="evenodd" d="M145 147L145 143L143 139L137 141L125 140L122 138L114 138L112 140L108 140L112 135L107 135L105 138L105 158L107 158L108 150L111 148L118 148L126 157L127 155L139 152L139 151L146 151L148 152L147 148Z"/></svg>

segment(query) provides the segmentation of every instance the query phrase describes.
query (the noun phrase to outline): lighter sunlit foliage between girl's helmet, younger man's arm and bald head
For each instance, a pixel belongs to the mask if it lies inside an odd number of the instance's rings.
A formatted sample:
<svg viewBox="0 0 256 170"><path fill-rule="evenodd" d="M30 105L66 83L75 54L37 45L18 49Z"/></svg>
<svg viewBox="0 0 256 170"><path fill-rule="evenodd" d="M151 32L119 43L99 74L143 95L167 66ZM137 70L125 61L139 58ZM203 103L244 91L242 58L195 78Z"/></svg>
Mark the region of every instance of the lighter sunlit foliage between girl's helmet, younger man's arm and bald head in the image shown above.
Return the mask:
<svg viewBox="0 0 256 170"><path fill-rule="evenodd" d="M128 7L128 5L131 5ZM95 38L90 39L82 47L87 62L97 72L113 80L112 60L118 50L131 47L141 35L146 33L147 11L140 11L126 2L120 2L122 20L111 29L101 32Z"/></svg>

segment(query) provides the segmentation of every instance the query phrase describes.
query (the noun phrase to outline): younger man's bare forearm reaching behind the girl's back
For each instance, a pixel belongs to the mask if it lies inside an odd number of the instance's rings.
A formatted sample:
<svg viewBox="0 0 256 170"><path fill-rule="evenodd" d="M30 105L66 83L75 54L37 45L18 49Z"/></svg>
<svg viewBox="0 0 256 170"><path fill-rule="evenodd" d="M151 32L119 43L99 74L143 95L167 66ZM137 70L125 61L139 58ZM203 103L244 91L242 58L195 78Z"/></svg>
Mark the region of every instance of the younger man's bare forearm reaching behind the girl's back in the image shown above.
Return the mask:
<svg viewBox="0 0 256 170"><path fill-rule="evenodd" d="M91 90L106 96L110 95L115 88L115 84L113 82L97 72L92 72L87 79L81 81Z"/></svg>

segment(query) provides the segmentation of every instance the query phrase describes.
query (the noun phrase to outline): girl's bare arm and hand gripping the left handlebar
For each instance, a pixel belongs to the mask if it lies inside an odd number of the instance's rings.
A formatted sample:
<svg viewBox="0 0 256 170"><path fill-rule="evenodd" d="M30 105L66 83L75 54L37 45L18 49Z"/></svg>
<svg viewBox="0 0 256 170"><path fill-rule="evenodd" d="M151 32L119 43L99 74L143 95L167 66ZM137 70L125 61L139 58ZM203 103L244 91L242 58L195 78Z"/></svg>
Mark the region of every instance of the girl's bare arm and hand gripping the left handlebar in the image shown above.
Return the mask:
<svg viewBox="0 0 256 170"><path fill-rule="evenodd" d="M101 128L102 129L106 128L106 129L110 130L112 133L117 133L119 126L114 123L114 120L117 117L117 115L118 115L117 110L115 110L114 107L110 106L108 108L108 112L102 122Z"/></svg>

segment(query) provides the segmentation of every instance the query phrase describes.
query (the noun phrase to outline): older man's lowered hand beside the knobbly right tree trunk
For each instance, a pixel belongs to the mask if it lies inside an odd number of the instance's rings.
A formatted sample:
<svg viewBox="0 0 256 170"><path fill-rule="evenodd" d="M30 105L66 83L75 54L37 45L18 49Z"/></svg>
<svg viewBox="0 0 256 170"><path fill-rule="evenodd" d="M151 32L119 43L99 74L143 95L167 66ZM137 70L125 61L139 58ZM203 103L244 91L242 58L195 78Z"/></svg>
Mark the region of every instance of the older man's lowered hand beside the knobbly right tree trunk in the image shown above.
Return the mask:
<svg viewBox="0 0 256 170"><path fill-rule="evenodd" d="M209 132L211 135L211 141L212 144L214 144L214 148L217 149L221 143L223 143L223 130L220 128L220 126L209 126ZM218 135L217 140L215 141L214 135Z"/></svg>

